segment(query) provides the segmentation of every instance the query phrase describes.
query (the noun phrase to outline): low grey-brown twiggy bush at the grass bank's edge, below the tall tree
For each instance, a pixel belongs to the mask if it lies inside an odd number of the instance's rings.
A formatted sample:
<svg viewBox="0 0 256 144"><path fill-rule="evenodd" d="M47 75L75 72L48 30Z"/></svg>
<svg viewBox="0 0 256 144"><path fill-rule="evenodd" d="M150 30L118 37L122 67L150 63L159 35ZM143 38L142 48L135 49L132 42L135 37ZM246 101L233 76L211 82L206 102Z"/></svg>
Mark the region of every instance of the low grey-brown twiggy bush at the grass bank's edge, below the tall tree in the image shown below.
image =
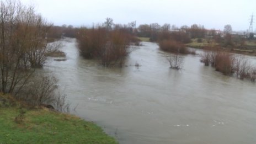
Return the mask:
<svg viewBox="0 0 256 144"><path fill-rule="evenodd" d="M66 95L56 92L57 79L54 76L34 77L15 97L31 106L46 106L58 111L69 111Z"/></svg>

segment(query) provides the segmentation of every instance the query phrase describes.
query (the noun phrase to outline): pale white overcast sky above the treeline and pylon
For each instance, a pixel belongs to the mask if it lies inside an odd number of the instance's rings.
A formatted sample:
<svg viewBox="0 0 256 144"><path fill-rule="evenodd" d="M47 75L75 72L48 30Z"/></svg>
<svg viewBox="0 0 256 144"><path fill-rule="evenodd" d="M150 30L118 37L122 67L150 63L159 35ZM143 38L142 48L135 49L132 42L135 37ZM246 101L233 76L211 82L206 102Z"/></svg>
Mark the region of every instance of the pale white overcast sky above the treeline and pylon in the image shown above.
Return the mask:
<svg viewBox="0 0 256 144"><path fill-rule="evenodd" d="M135 21L182 26L201 24L206 29L247 30L256 15L256 0L21 0L55 25L91 26L109 17L116 24ZM256 17L255 17L256 18ZM256 20L255 20L256 22ZM256 28L256 23L255 26ZM256 30L256 29L254 29Z"/></svg>

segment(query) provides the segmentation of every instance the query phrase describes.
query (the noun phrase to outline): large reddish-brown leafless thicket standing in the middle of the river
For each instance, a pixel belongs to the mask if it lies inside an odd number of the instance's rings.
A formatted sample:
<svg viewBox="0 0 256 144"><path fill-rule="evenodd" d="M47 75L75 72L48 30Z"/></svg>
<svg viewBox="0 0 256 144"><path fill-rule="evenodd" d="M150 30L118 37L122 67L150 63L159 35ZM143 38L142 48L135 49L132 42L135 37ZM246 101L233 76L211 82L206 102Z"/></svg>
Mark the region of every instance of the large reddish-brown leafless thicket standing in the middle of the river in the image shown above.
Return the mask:
<svg viewBox="0 0 256 144"><path fill-rule="evenodd" d="M80 53L85 58L99 58L102 65L108 67L124 63L124 58L129 54L130 42L136 42L129 31L124 28L106 30L106 28L81 28L77 36Z"/></svg>

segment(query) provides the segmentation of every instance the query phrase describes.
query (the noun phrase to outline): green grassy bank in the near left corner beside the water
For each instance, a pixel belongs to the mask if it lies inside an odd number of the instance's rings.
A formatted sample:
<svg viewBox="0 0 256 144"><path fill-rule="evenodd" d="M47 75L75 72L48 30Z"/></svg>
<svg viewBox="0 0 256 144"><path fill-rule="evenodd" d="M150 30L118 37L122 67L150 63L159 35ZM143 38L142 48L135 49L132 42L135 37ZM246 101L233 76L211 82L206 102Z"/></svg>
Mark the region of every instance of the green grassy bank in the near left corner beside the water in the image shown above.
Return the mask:
<svg viewBox="0 0 256 144"><path fill-rule="evenodd" d="M0 143L117 142L99 126L76 116L48 109L1 107L0 101Z"/></svg>

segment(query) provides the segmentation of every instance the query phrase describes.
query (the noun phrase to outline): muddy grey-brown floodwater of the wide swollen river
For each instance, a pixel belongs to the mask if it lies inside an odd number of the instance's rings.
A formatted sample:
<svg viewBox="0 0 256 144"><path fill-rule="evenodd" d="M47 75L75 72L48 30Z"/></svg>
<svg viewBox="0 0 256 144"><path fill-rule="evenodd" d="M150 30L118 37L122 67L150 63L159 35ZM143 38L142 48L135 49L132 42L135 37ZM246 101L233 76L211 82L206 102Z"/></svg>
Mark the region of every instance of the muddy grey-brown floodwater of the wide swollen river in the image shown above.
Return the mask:
<svg viewBox="0 0 256 144"><path fill-rule="evenodd" d="M60 79L71 108L77 105L71 113L120 143L256 143L255 83L223 76L198 55L171 70L170 54L141 44L132 46L125 67L104 68L79 56L75 39L65 39L67 61L50 58L43 71Z"/></svg>

